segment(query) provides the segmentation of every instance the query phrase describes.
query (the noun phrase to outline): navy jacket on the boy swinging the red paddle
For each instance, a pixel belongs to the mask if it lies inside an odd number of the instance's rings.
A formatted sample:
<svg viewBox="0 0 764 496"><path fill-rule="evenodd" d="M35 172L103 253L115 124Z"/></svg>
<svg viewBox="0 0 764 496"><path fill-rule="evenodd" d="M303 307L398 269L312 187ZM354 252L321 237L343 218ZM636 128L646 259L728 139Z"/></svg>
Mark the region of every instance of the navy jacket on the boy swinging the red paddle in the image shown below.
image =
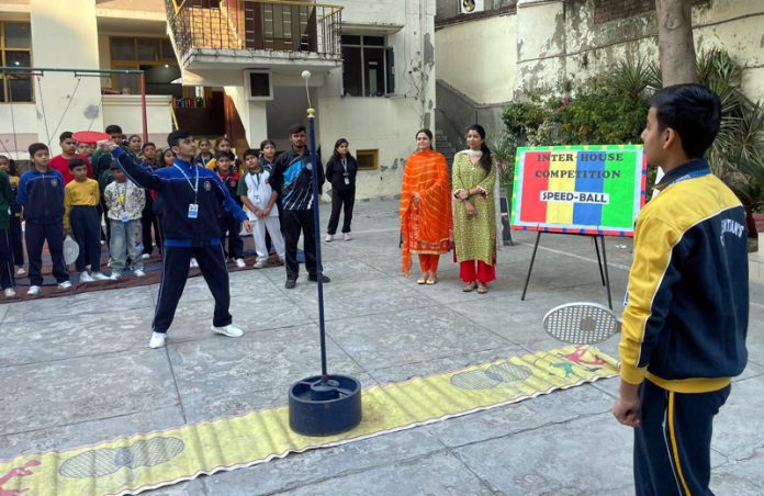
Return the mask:
<svg viewBox="0 0 764 496"><path fill-rule="evenodd" d="M157 190L164 199L162 243L173 247L204 247L221 244L217 217L231 212L239 221L247 215L228 194L217 172L176 158L173 167L148 172L122 148L112 151L127 178L142 188ZM199 188L193 192L199 174ZM196 203L196 218L189 218L189 205Z"/></svg>

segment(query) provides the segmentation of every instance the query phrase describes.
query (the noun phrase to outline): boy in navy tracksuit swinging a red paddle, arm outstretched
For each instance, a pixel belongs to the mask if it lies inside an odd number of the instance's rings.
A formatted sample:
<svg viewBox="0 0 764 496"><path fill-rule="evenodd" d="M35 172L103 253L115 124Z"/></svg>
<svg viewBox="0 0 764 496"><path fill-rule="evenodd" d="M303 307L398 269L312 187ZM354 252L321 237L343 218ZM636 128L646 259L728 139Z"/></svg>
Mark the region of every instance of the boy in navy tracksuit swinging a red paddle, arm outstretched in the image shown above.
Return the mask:
<svg viewBox="0 0 764 496"><path fill-rule="evenodd" d="M162 279L159 301L154 316L154 334L148 346L165 346L167 329L172 324L178 301L189 277L192 257L215 298L212 331L229 337L239 337L244 331L232 325L228 313L231 292L228 269L221 247L221 230L217 216L228 210L244 222L251 232L251 223L244 211L228 194L217 173L192 164L196 144L190 133L176 131L167 137L176 155L172 167L148 172L136 164L113 142L104 142L103 148L112 153L122 170L136 184L157 190L165 199L162 219L164 256Z"/></svg>

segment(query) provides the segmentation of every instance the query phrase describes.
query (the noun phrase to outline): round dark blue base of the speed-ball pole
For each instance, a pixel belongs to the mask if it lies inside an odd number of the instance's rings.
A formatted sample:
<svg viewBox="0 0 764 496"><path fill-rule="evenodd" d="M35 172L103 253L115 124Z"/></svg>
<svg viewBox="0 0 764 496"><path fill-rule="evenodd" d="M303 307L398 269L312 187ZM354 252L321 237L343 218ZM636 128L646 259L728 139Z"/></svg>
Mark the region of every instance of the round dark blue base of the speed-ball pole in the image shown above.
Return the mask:
<svg viewBox="0 0 764 496"><path fill-rule="evenodd" d="M361 383L348 375L303 379L289 390L289 427L303 436L332 436L361 422Z"/></svg>

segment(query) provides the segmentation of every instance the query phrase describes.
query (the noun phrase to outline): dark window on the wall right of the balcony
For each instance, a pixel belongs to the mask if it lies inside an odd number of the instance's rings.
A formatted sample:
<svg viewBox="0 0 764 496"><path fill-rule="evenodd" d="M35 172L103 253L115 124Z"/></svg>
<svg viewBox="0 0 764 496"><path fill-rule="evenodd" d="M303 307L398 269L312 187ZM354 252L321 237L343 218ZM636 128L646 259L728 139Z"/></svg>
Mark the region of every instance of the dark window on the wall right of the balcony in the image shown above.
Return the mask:
<svg viewBox="0 0 764 496"><path fill-rule="evenodd" d="M395 56L384 36L342 35L342 86L349 97L395 92Z"/></svg>

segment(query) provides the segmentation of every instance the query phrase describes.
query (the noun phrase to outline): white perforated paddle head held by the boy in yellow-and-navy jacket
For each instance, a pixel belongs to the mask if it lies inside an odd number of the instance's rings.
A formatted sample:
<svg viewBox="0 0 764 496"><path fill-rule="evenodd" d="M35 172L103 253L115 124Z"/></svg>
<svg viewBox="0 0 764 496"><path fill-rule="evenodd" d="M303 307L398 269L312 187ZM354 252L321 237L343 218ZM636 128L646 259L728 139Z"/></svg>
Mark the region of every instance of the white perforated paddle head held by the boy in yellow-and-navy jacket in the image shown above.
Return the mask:
<svg viewBox="0 0 764 496"><path fill-rule="evenodd" d="M543 330L573 345L596 345L620 332L620 319L598 303L566 303L543 316Z"/></svg>

